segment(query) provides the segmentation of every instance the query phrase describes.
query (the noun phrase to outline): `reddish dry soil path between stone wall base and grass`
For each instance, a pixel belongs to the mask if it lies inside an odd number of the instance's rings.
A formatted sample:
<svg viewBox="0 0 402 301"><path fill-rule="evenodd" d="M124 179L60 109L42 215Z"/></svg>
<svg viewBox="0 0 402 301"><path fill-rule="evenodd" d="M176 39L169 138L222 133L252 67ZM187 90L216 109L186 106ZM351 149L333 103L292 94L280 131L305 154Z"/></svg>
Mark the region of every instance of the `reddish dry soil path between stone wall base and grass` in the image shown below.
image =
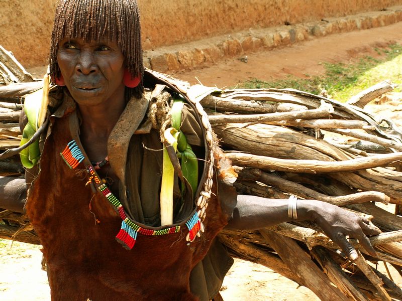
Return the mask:
<svg viewBox="0 0 402 301"><path fill-rule="evenodd" d="M227 59L214 66L200 70L178 72L176 77L197 83L195 78L207 86L223 88L234 86L251 78L272 80L295 75L319 75L324 72L322 62L343 62L363 55L378 56L375 47L391 43L402 43L402 22L386 27L333 34L314 38L291 46L245 54ZM247 55L247 63L239 60Z"/></svg>

